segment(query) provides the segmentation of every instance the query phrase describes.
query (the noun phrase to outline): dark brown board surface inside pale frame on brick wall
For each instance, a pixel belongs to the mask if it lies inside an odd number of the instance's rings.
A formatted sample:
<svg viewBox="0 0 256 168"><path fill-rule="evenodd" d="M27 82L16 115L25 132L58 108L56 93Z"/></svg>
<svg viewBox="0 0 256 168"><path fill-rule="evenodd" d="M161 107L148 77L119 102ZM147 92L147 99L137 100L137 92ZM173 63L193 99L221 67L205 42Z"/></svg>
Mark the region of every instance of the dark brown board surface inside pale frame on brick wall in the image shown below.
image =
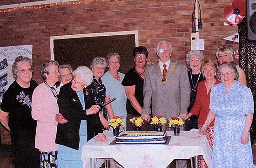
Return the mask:
<svg viewBox="0 0 256 168"><path fill-rule="evenodd" d="M54 60L60 65L67 63L76 69L80 65L90 67L96 56L106 58L109 52L116 52L121 57L119 71L126 73L134 67L134 48L135 34L54 39Z"/></svg>

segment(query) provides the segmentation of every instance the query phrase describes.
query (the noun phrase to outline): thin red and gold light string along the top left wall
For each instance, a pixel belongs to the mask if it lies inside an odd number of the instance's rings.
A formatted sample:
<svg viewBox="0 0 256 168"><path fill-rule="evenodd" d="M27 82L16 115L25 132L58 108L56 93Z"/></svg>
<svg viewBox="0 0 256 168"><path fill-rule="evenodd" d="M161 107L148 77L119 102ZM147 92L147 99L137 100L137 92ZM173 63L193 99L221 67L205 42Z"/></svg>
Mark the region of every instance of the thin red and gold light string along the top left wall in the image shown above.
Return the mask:
<svg viewBox="0 0 256 168"><path fill-rule="evenodd" d="M39 6L20 6L20 4L19 4L19 7L1 9L0 13L13 12L13 11L16 11L18 9L43 9L43 8L48 8L48 7L57 6L57 5L61 5L61 4L77 5L77 4L85 3L87 1L88 0L80 0L80 1L75 1L75 2L62 2L62 1L60 1L60 2L56 2L56 3L52 3L52 4L45 4L45 5L39 5Z"/></svg>

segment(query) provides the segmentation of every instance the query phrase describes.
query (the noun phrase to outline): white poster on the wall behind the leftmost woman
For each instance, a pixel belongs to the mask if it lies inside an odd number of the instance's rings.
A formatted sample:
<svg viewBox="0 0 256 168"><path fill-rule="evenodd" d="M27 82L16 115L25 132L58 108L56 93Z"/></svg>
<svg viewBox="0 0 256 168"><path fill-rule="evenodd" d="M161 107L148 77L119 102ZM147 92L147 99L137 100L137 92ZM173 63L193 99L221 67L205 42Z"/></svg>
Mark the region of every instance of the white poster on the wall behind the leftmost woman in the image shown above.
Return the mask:
<svg viewBox="0 0 256 168"><path fill-rule="evenodd" d="M18 56L32 59L32 45L0 47L0 102L4 92L14 82L12 66Z"/></svg>

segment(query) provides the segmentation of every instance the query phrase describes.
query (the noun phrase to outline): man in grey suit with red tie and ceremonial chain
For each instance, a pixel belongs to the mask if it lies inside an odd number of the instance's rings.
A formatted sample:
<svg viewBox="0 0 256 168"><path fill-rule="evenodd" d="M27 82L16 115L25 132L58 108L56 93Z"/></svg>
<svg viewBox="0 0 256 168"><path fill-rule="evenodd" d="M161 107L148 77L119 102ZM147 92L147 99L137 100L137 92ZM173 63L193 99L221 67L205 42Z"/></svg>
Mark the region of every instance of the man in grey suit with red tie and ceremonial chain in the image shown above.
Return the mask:
<svg viewBox="0 0 256 168"><path fill-rule="evenodd" d="M159 61L146 67L145 71L141 117L146 121L150 120L150 103L153 116L161 115L168 120L187 114L189 107L190 84L186 65L170 59L171 44L168 41L159 42L156 53ZM168 130L165 127L163 130ZM187 161L176 161L176 168L186 167Z"/></svg>

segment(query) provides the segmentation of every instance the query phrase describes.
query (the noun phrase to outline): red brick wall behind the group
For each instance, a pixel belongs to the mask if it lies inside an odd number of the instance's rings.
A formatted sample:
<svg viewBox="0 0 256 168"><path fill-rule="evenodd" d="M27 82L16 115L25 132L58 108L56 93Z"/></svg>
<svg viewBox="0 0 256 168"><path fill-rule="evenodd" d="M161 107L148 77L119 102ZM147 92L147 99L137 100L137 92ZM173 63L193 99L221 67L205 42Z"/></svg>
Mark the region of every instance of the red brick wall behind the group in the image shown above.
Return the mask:
<svg viewBox="0 0 256 168"><path fill-rule="evenodd" d="M237 32L237 27L223 26L224 8L231 3L200 0L203 28L199 39L205 39L206 58L216 60L219 45L238 49L237 43L223 40ZM138 30L139 45L149 51L149 64L157 60L155 47L163 39L173 46L172 58L185 62L193 6L193 0L88 0L77 5L18 9L1 13L0 46L33 45L34 79L38 82L42 82L40 65L50 59L50 36Z"/></svg>

